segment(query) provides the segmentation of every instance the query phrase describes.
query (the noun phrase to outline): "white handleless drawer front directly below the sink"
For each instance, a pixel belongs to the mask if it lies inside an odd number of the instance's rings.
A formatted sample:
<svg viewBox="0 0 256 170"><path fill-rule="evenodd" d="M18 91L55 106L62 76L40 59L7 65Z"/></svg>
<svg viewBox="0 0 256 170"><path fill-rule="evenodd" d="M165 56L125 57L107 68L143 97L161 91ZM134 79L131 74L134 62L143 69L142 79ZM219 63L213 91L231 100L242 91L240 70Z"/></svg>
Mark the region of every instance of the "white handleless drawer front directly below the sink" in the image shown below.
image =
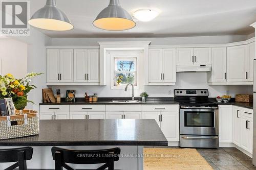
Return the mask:
<svg viewBox="0 0 256 170"><path fill-rule="evenodd" d="M108 112L141 112L142 105L106 105L106 111Z"/></svg>

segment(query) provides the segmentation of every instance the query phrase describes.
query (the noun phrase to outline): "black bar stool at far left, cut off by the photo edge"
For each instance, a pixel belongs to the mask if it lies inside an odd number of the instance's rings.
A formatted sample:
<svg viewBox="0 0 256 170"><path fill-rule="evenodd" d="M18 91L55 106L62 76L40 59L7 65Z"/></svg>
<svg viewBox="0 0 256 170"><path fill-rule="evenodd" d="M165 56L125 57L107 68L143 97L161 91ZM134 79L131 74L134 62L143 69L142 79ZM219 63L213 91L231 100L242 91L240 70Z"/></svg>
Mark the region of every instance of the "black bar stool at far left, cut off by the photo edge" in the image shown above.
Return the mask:
<svg viewBox="0 0 256 170"><path fill-rule="evenodd" d="M12 170L18 167L19 170L27 170L27 160L32 159L33 148L12 148L0 149L0 162L16 162L5 170Z"/></svg>

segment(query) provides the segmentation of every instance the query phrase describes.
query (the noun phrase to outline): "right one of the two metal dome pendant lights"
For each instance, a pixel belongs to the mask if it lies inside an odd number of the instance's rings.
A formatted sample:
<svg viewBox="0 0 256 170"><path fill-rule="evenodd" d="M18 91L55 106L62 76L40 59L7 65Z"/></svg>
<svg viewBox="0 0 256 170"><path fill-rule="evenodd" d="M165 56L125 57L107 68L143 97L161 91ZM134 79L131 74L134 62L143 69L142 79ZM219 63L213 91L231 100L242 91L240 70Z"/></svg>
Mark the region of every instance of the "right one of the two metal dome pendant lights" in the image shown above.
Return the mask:
<svg viewBox="0 0 256 170"><path fill-rule="evenodd" d="M99 13L93 25L103 30L122 31L134 28L136 23L132 16L120 6L119 0L110 0L110 5Z"/></svg>

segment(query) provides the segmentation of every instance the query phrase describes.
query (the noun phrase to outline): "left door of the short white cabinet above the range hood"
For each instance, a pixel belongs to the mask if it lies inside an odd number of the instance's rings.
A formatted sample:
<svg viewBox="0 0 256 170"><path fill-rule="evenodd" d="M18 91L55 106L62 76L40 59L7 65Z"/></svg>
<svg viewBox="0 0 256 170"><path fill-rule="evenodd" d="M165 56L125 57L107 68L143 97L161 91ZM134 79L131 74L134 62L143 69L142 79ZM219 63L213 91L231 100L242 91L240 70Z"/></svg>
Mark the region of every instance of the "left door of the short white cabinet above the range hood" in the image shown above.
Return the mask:
<svg viewBox="0 0 256 170"><path fill-rule="evenodd" d="M177 65L194 65L194 48L177 48L176 53Z"/></svg>

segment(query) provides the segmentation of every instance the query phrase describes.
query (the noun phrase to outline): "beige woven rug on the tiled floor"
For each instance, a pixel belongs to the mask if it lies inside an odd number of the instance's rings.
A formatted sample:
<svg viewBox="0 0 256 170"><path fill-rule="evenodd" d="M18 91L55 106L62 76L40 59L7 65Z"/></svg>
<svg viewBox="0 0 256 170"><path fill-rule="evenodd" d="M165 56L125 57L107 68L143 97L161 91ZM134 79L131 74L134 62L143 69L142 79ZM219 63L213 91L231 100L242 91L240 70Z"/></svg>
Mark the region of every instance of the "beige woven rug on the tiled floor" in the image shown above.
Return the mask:
<svg viewBox="0 0 256 170"><path fill-rule="evenodd" d="M144 169L212 170L196 149L144 148Z"/></svg>

